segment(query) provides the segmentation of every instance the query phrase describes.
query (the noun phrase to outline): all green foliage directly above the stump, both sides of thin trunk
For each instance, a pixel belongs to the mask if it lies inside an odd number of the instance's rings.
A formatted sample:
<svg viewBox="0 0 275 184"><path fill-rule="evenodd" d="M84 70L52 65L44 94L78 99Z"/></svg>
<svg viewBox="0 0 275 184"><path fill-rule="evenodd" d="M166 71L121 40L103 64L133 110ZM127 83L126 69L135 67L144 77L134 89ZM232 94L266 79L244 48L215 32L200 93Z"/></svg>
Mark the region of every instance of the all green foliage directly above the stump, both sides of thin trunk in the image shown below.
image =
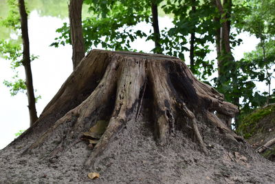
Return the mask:
<svg viewBox="0 0 275 184"><path fill-rule="evenodd" d="M111 50L133 50L131 43L137 38L154 40L153 28L150 34L146 34L142 28L137 30L138 23L151 23L151 2L142 1L98 1L86 0L91 16L83 20L83 36L86 50L94 47L102 47ZM196 32L195 40L195 70L200 79L206 80L214 72L214 61L206 61L206 55L210 53L209 43L214 43L214 32L219 25L212 20L217 13L210 1L191 0L154 1L159 9L166 14L173 14L174 28L161 31L161 48L164 54L173 55L184 60L183 52L189 50L188 35ZM162 5L162 6L160 6ZM190 11L196 6L196 12ZM56 30L61 34L52 43L52 46L71 43L69 38L69 25L64 23L62 28ZM156 51L156 50L154 50Z"/></svg>

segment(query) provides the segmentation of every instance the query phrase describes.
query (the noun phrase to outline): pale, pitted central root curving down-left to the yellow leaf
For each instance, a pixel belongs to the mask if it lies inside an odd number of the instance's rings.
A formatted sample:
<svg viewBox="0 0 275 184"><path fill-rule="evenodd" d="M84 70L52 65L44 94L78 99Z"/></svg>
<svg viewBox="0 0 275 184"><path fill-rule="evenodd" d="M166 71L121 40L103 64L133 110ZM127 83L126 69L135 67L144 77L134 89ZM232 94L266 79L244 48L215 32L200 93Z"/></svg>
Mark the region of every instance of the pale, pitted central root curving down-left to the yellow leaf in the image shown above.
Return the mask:
<svg viewBox="0 0 275 184"><path fill-rule="evenodd" d="M145 82L145 62L133 61L133 58L129 58L123 62L121 73L118 80L115 109L107 130L85 161L86 167L94 164L96 157L107 147L113 136L121 130L127 121L127 116L133 112L134 105L140 95L140 88Z"/></svg>

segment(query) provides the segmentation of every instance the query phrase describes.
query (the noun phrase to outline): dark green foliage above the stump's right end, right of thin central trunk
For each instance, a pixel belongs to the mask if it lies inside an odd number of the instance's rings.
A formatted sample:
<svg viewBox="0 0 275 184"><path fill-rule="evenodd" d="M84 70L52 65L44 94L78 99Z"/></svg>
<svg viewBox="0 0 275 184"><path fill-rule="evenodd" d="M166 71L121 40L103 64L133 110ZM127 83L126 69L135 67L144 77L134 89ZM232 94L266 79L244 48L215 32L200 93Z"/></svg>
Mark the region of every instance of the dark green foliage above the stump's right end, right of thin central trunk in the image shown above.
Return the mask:
<svg viewBox="0 0 275 184"><path fill-rule="evenodd" d="M195 11L192 11L192 6ZM167 14L174 15L175 25L162 34L165 53L184 59L181 53L189 51L188 35L195 32L195 66L192 72L199 79L206 80L214 72L213 61L207 61L206 55L211 51L209 44L214 43L215 30L219 26L212 21L217 13L214 6L210 1L169 0L162 8Z"/></svg>

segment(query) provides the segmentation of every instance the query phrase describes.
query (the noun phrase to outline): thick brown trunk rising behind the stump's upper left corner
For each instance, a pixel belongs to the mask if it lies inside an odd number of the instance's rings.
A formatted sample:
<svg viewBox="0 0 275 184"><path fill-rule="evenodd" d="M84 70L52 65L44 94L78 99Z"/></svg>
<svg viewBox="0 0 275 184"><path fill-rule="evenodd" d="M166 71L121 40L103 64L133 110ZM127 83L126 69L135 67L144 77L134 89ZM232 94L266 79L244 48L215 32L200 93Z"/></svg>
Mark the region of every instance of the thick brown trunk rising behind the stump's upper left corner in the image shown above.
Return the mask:
<svg viewBox="0 0 275 184"><path fill-rule="evenodd" d="M69 28L73 47L72 61L74 69L85 57L85 43L82 30L82 12L83 0L69 1Z"/></svg>

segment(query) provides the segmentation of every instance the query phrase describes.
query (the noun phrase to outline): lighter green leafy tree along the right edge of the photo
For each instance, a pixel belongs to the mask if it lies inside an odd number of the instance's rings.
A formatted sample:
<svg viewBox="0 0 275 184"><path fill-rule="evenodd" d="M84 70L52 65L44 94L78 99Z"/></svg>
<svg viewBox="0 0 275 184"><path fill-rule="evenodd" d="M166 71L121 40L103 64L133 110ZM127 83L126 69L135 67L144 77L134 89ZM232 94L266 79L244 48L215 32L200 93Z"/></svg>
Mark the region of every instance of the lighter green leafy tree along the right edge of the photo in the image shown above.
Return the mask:
<svg viewBox="0 0 275 184"><path fill-rule="evenodd" d="M275 29L273 28L274 14L272 14L272 6L275 1L250 1L250 14L245 18L245 24L240 23L238 28L254 34L260 39L256 50L245 54L245 61L254 63L259 74L256 76L258 81L265 81L268 90L263 93L266 104L270 103L272 91L270 88L272 73L274 72L274 40ZM256 72L256 68L254 71ZM249 71L253 73L252 71ZM253 74L255 77L255 73Z"/></svg>

